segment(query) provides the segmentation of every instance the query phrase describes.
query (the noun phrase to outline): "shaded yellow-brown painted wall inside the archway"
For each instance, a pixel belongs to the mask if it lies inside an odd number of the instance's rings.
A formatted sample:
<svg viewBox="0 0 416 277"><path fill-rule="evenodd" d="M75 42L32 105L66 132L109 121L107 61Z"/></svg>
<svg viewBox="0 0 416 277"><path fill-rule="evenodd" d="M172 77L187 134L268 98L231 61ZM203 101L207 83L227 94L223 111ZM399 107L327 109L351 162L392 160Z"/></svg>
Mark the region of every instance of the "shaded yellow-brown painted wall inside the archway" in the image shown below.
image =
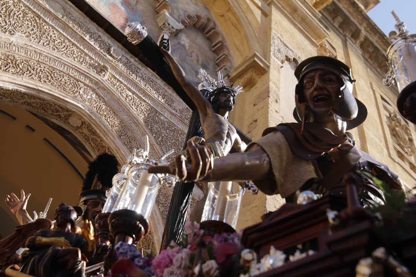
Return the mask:
<svg viewBox="0 0 416 277"><path fill-rule="evenodd" d="M32 217L32 211L43 211L52 197L47 218L53 220L59 203L77 204L82 179L43 138L64 153L81 174L85 174L88 164L61 135L28 111L5 104L0 109L16 118L0 113L0 197L5 199L11 192L20 197L20 189L25 189L32 194L27 205ZM0 205L0 217L0 233L5 237L15 228L17 219L4 202Z"/></svg>

